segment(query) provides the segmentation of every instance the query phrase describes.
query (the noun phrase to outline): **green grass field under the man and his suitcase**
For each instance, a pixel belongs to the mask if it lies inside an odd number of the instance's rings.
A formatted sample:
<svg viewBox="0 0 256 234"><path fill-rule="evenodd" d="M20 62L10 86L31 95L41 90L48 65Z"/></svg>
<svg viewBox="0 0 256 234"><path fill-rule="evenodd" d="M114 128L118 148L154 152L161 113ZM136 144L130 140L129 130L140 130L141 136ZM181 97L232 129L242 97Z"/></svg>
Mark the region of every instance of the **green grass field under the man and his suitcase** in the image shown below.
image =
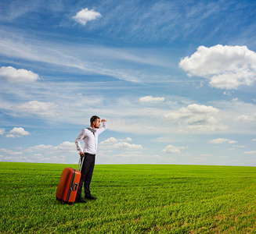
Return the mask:
<svg viewBox="0 0 256 234"><path fill-rule="evenodd" d="M256 168L96 165L98 200L62 205L66 167L0 162L1 233L256 233Z"/></svg>

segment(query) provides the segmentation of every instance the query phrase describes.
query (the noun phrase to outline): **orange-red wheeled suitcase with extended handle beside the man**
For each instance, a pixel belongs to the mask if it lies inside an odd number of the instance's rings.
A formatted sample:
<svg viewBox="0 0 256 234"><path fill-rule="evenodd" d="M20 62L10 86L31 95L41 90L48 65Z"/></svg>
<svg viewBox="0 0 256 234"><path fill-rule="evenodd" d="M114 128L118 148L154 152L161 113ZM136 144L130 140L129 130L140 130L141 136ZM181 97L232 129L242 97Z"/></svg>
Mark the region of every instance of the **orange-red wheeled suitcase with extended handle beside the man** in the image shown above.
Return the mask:
<svg viewBox="0 0 256 234"><path fill-rule="evenodd" d="M81 167L84 162L84 158L79 159L78 168L81 161ZM78 185L81 178L81 167L80 171L74 168L65 168L59 179L59 186L56 192L56 199L59 200L62 204L68 203L73 204L78 193Z"/></svg>

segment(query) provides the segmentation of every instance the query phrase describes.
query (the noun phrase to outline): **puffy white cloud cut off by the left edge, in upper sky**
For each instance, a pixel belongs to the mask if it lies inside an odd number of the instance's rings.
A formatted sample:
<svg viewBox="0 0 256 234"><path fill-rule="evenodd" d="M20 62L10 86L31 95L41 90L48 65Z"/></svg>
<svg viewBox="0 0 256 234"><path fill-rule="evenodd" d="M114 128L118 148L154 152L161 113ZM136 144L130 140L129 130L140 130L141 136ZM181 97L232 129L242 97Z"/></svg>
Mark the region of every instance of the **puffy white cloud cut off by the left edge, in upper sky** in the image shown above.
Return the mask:
<svg viewBox="0 0 256 234"><path fill-rule="evenodd" d="M26 69L15 69L12 66L2 66L0 68L0 77L10 83L33 82L39 79L38 74Z"/></svg>

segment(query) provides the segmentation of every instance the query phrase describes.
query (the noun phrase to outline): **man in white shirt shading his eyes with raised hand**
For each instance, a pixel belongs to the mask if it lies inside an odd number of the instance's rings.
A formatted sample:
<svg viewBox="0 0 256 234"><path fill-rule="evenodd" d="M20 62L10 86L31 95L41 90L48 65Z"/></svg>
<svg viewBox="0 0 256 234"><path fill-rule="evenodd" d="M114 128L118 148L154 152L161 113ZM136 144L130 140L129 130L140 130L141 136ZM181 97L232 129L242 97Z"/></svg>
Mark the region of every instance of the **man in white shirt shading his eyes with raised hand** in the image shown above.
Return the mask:
<svg viewBox="0 0 256 234"><path fill-rule="evenodd" d="M91 126L87 129L82 129L75 144L81 157L85 157L84 163L81 168L81 179L78 186L78 193L76 201L85 203L86 201L81 197L81 189L84 183L85 186L85 198L96 200L97 197L93 197L90 191L90 183L92 180L92 172L95 165L96 151L98 147L98 136L100 133L106 130L106 119L103 119L103 127L99 129L100 119L98 116L93 115L90 119ZM81 147L80 141L85 141L84 149Z"/></svg>

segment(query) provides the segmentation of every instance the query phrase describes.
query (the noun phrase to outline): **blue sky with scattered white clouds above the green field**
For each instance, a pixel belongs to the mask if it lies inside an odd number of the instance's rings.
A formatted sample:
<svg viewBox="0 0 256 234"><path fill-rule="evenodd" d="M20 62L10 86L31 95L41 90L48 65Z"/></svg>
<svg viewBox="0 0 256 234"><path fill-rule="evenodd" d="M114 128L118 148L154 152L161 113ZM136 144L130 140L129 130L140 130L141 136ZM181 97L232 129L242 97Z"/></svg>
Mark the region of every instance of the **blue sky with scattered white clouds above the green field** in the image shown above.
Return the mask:
<svg viewBox="0 0 256 234"><path fill-rule="evenodd" d="M1 1L0 161L256 166L256 2Z"/></svg>

